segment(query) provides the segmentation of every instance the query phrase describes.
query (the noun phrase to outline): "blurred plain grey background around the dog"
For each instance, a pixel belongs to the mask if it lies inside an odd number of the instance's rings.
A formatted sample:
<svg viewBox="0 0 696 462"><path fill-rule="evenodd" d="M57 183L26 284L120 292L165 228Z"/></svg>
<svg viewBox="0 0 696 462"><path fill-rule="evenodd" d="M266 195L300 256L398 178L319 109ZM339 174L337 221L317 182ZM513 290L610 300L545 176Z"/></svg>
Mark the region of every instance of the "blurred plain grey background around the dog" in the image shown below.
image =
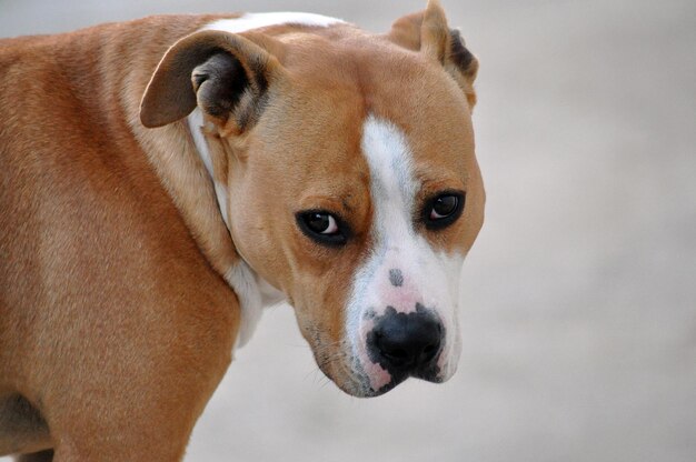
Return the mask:
<svg viewBox="0 0 696 462"><path fill-rule="evenodd" d="M280 307L237 352L187 461L696 460L696 2L443 3L481 63L488 191L459 372L349 398ZM0 0L0 36L274 10L384 31L424 6Z"/></svg>

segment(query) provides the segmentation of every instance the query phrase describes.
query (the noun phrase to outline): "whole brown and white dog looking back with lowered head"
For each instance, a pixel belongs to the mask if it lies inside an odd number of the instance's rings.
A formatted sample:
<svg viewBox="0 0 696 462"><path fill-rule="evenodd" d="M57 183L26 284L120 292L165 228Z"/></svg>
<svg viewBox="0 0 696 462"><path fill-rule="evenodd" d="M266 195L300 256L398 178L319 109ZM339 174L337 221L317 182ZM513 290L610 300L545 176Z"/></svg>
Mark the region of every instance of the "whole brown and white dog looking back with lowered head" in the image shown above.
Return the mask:
<svg viewBox="0 0 696 462"><path fill-rule="evenodd" d="M179 460L281 300L347 393L449 379L477 67L436 1L0 41L0 455Z"/></svg>

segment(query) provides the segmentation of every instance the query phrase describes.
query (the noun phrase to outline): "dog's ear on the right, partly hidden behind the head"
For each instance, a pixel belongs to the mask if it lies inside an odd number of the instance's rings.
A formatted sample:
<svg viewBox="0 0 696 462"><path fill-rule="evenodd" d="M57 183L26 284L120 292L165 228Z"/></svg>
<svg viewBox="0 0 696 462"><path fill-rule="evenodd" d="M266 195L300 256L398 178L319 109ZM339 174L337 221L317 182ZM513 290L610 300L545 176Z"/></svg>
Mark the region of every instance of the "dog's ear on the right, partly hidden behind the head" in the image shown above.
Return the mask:
<svg viewBox="0 0 696 462"><path fill-rule="evenodd" d="M466 94L469 107L474 108L478 60L465 47L459 31L449 29L438 0L429 0L425 11L396 20L387 37L398 46L439 61Z"/></svg>

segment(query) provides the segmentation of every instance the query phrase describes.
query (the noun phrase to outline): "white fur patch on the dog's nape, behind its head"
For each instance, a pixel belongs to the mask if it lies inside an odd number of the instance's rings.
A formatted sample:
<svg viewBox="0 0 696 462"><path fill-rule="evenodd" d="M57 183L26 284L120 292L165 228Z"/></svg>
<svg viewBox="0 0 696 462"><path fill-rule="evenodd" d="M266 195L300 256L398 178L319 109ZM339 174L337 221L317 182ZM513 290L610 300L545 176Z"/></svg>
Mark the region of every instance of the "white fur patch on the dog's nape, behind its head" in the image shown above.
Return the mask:
<svg viewBox="0 0 696 462"><path fill-rule="evenodd" d="M203 30L221 30L231 33L266 28L279 24L299 24L326 28L344 21L321 14L301 12L246 13L239 18L220 19L203 28Z"/></svg>

